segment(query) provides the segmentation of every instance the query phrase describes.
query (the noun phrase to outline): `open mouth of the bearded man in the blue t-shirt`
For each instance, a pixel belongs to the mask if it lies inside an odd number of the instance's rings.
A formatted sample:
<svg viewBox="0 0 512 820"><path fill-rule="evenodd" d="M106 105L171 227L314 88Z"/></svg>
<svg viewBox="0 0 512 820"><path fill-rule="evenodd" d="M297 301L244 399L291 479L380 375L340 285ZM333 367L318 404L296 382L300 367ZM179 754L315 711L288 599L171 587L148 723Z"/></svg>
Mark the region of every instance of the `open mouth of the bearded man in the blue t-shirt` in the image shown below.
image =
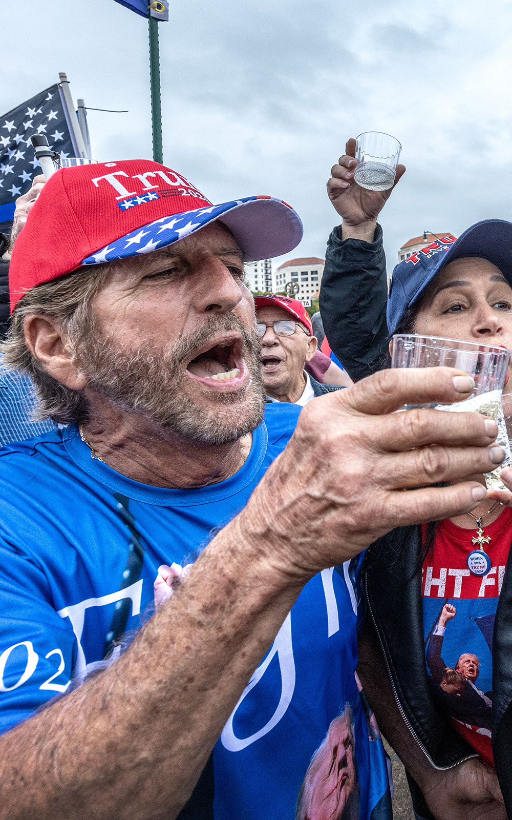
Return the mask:
<svg viewBox="0 0 512 820"><path fill-rule="evenodd" d="M189 376L215 389L239 389L247 381L242 339L230 337L203 349L187 365Z"/></svg>

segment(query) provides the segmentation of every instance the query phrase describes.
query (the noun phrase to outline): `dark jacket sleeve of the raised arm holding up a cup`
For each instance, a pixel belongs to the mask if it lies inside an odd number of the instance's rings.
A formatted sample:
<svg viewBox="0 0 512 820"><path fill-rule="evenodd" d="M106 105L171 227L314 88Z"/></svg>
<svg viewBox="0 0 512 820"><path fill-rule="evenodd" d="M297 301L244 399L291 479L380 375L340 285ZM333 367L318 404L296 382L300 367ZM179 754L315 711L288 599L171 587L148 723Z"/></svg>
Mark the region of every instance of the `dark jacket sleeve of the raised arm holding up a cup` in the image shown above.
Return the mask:
<svg viewBox="0 0 512 820"><path fill-rule="evenodd" d="M343 240L338 225L328 238L319 307L328 344L354 381L387 367L386 304L381 226L369 243Z"/></svg>

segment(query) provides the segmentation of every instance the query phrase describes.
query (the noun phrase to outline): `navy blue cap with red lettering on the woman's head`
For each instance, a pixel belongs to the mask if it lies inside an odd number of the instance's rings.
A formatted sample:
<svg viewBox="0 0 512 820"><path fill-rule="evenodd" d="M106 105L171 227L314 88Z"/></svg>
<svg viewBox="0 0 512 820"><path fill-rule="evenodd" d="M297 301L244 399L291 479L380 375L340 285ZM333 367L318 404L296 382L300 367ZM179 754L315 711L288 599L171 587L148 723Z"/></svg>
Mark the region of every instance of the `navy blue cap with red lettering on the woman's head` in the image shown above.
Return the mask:
<svg viewBox="0 0 512 820"><path fill-rule="evenodd" d="M496 265L512 287L512 222L484 219L464 230L459 239L440 236L396 265L387 298L387 328L391 334L406 311L421 298L448 262L480 257Z"/></svg>

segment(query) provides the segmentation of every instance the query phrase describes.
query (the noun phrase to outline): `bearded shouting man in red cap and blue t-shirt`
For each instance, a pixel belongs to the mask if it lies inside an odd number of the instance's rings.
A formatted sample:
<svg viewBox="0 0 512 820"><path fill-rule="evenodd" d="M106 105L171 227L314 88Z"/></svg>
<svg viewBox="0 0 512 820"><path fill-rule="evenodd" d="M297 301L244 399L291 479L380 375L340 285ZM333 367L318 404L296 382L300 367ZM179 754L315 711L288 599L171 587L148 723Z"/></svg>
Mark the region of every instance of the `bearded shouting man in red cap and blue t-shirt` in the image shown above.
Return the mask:
<svg viewBox="0 0 512 820"><path fill-rule="evenodd" d="M34 204L2 349L60 429L0 453L2 820L292 820L340 704L360 818L389 817L358 556L472 509L456 482L497 429L394 412L467 398L447 368L265 408L243 262L301 232L142 160L61 169Z"/></svg>

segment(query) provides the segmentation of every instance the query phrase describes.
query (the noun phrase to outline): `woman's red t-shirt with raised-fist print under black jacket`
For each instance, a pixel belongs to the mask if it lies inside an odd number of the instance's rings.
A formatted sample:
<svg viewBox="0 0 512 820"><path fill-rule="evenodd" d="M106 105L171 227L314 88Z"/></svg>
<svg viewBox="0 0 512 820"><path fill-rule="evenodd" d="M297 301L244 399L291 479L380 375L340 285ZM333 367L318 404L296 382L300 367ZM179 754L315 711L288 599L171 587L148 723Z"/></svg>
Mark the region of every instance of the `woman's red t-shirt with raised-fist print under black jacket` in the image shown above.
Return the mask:
<svg viewBox="0 0 512 820"><path fill-rule="evenodd" d="M485 517L483 518L485 525ZM470 572L478 549L472 530L443 521L423 566L424 641L429 683L437 708L486 763L494 765L492 633L512 541L512 511L505 508L483 536L491 559L486 575Z"/></svg>

